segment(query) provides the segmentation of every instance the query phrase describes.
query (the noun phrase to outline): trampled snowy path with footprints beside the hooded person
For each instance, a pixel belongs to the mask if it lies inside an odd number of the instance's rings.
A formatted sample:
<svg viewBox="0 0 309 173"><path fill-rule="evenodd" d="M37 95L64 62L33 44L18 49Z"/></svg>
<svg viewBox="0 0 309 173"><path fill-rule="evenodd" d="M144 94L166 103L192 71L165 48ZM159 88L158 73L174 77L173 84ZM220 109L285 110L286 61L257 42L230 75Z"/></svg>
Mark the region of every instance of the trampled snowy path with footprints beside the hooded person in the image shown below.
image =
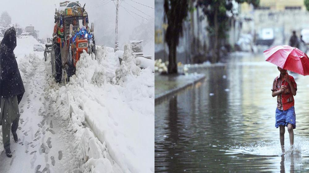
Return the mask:
<svg viewBox="0 0 309 173"><path fill-rule="evenodd" d="M18 143L11 135L12 158L0 155L0 172L78 172L69 120L57 118L47 90L46 73L50 62L40 61L27 79L25 94L19 104ZM68 166L69 165L69 166Z"/></svg>

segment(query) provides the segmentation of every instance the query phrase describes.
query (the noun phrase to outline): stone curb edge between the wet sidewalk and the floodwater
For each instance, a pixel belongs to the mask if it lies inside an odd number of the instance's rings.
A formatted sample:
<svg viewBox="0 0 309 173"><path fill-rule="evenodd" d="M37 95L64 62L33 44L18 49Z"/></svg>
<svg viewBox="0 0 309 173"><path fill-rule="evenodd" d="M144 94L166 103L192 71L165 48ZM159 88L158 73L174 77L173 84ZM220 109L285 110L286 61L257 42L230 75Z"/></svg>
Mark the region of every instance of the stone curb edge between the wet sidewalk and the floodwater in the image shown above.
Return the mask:
<svg viewBox="0 0 309 173"><path fill-rule="evenodd" d="M168 90L168 91L166 91L166 92L164 92L162 94L159 94L159 95L155 94L155 104L156 104L156 102L158 102L158 101L160 101L162 99L165 99L168 96L171 96L171 95L173 95L173 94L175 94L175 93L177 93L177 92L179 92L181 90L184 90L188 86L196 84L197 82L205 79L205 77L206 76L204 74L200 74L200 76L198 76L193 82L190 82L190 83L184 84L183 86L179 86L179 87L176 87L174 89Z"/></svg>

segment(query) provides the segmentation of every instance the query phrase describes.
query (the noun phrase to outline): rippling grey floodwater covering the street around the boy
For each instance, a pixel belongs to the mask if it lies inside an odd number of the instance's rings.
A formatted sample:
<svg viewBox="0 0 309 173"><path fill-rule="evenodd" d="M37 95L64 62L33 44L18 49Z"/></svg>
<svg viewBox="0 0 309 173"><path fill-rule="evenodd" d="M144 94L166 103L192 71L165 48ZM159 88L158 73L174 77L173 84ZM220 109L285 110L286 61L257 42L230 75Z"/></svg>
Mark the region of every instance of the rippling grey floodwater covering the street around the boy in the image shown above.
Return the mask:
<svg viewBox="0 0 309 173"><path fill-rule="evenodd" d="M241 55L241 56L240 56ZM155 104L155 172L309 172L309 76L294 76L296 129L281 155L275 128L277 67L238 54L177 95Z"/></svg>

